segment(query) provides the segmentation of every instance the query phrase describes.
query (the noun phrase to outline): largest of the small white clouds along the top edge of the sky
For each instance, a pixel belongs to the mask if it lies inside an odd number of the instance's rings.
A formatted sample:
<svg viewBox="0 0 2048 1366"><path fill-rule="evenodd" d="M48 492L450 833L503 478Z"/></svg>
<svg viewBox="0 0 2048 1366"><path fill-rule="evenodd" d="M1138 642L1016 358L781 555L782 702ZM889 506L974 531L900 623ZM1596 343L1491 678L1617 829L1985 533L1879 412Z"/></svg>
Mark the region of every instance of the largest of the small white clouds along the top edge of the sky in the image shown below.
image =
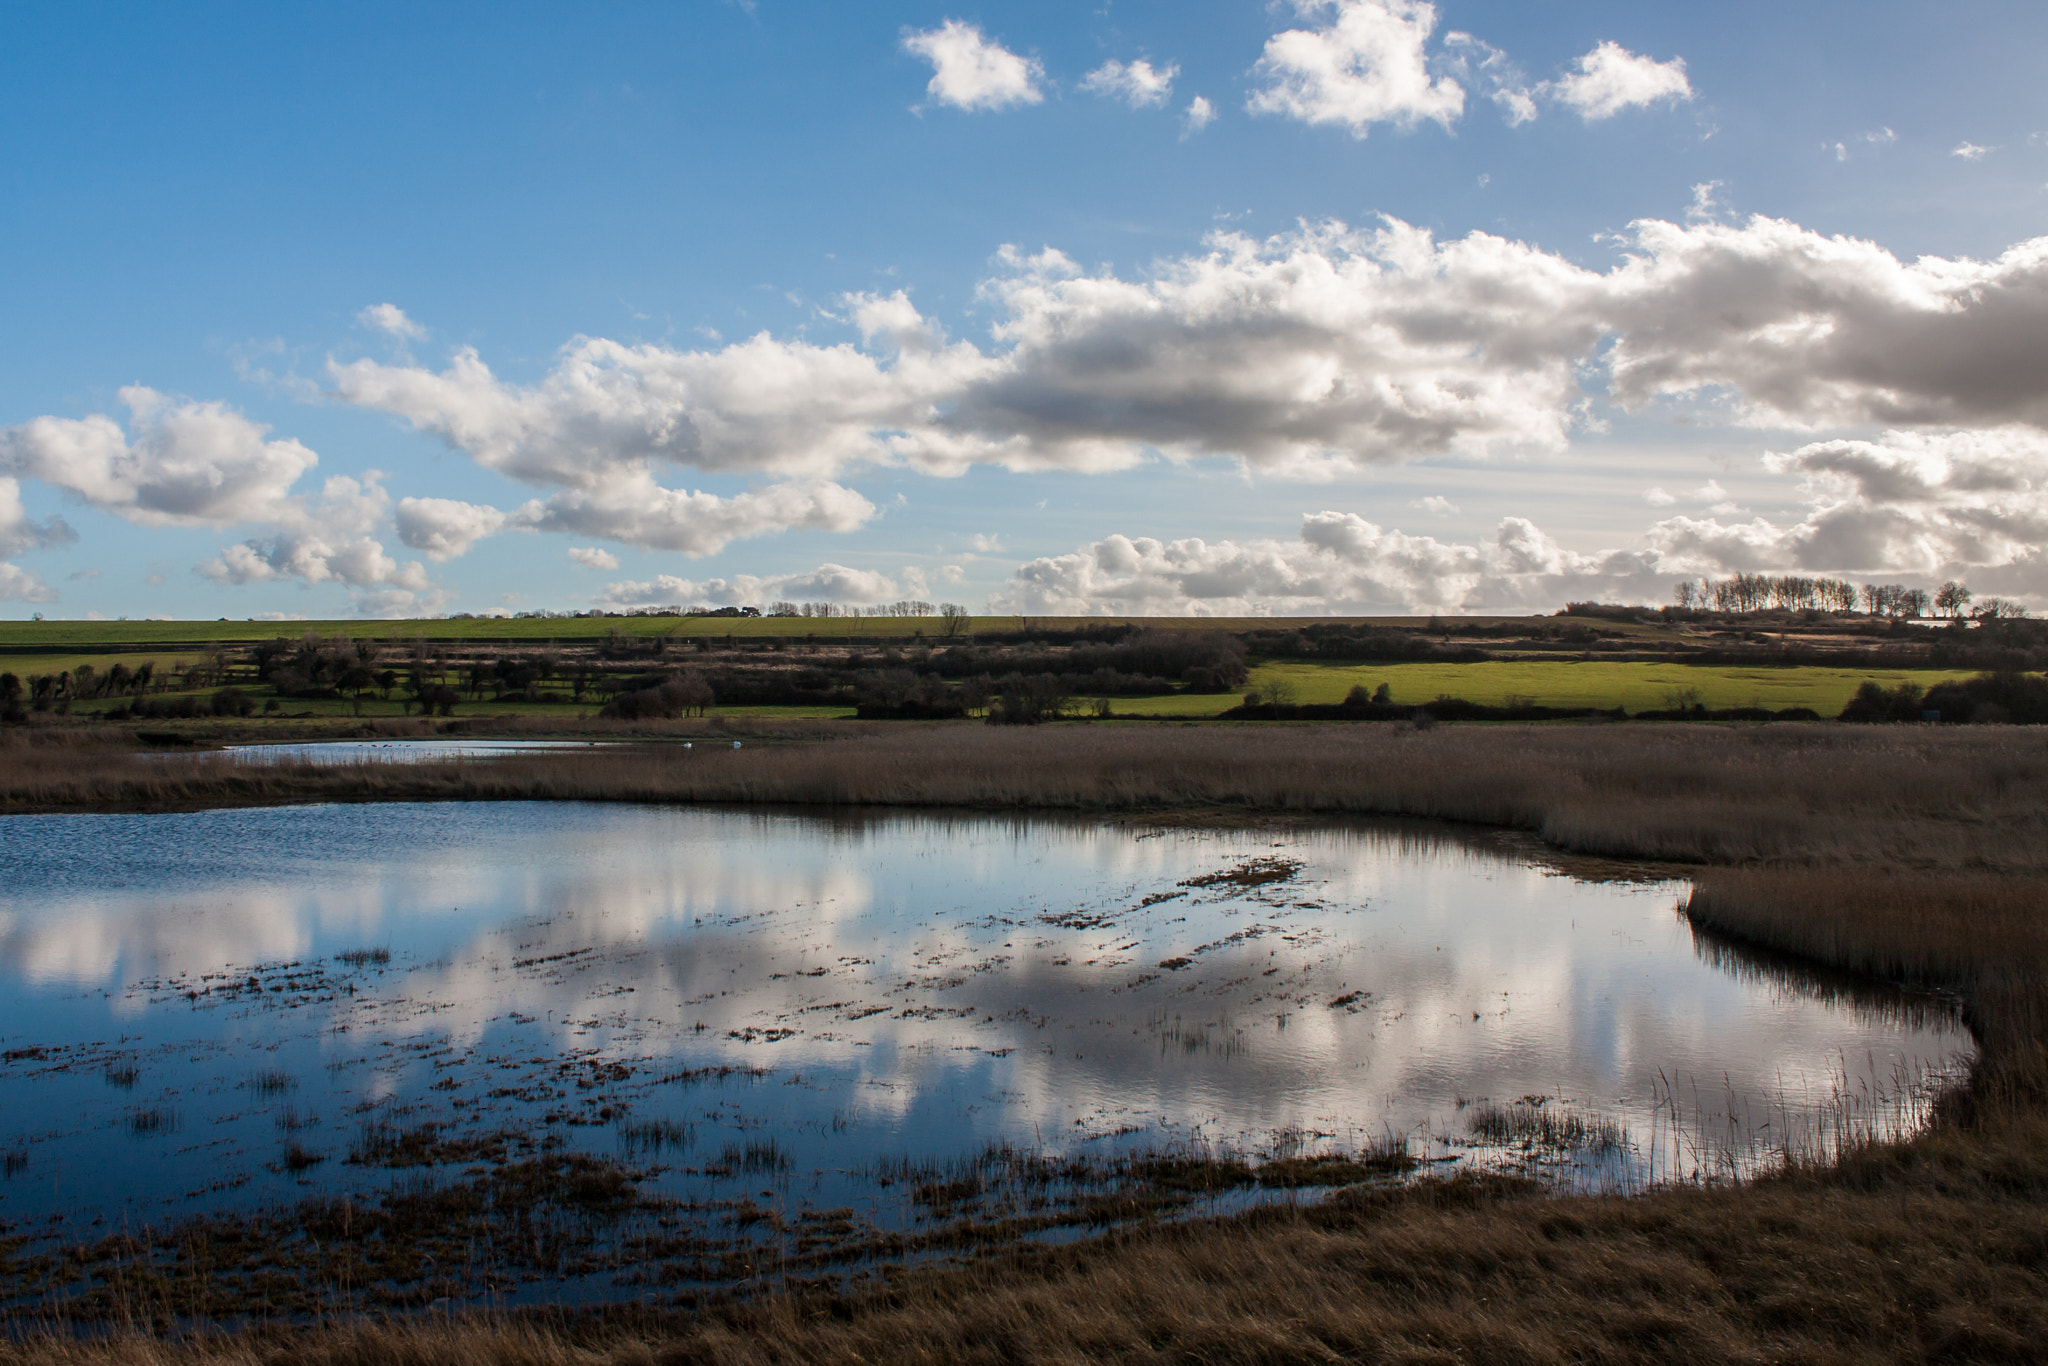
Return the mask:
<svg viewBox="0 0 2048 1366"><path fill-rule="evenodd" d="M1253 74L1266 84L1245 109L1303 123L1335 123L1364 137L1374 123L1446 129L1464 113L1464 88L1430 76L1425 45L1436 6L1423 0L1294 0L1303 18L1327 23L1266 39Z"/></svg>

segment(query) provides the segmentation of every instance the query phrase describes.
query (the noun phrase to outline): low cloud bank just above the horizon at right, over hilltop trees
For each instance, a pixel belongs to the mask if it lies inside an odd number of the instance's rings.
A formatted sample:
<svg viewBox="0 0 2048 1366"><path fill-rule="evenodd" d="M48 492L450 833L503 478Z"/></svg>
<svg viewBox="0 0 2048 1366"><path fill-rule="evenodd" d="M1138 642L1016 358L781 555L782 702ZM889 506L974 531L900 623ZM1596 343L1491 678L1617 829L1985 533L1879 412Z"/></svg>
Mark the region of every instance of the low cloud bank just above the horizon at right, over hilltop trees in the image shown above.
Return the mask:
<svg viewBox="0 0 2048 1366"><path fill-rule="evenodd" d="M1567 551L1534 522L1503 518L1483 543L1389 530L1350 512L1303 518L1298 541L1106 537L1016 569L997 612L1370 614L1552 610L1571 600L1665 602L1698 573L1825 573L2048 600L2048 434L1886 432L1765 455L1796 481L1796 520L1735 512L1708 479L1686 494L1706 516L1667 516L1636 545ZM1427 500L1423 500L1427 502ZM1677 496L1649 489L1645 502Z"/></svg>

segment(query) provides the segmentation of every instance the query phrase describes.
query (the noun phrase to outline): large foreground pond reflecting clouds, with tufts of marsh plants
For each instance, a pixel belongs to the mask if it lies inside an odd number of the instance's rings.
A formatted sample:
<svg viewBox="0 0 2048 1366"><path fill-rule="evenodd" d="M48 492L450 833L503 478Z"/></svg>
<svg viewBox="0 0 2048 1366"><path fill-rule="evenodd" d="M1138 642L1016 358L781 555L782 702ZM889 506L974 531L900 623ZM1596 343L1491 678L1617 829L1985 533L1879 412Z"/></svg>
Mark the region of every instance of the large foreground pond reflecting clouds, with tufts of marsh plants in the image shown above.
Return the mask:
<svg viewBox="0 0 2048 1366"><path fill-rule="evenodd" d="M1700 940L1683 891L1425 827L6 817L0 1223L88 1237L508 1143L702 1219L864 1229L997 1151L1628 1190L1905 1130L1968 1059L1952 1001Z"/></svg>

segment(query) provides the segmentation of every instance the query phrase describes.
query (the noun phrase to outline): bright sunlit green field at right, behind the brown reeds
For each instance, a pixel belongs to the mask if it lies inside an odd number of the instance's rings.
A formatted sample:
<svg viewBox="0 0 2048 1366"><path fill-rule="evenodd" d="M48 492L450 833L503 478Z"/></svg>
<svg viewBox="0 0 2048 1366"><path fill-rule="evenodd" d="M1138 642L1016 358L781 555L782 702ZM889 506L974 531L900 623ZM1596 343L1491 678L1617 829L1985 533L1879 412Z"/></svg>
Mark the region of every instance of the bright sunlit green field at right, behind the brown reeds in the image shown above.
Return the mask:
<svg viewBox="0 0 2048 1366"><path fill-rule="evenodd" d="M1354 686L1386 684L1395 702L1409 707L1438 696L1462 696L1468 702L1501 707L1511 696L1540 707L1626 707L1663 711L1675 707L1675 694L1698 692L1706 707L1810 707L1833 717L1855 694L1855 688L1876 680L1886 688L1915 682L1931 688L1950 678L1970 678L1970 670L1827 670L1827 668L1702 668L1686 664L1614 664L1602 659L1501 659L1491 664L1266 664L1251 672L1243 692L1282 680L1294 688L1296 702L1341 702ZM1137 696L1114 698L1112 707L1126 717L1214 717L1235 707L1237 694L1225 696Z"/></svg>

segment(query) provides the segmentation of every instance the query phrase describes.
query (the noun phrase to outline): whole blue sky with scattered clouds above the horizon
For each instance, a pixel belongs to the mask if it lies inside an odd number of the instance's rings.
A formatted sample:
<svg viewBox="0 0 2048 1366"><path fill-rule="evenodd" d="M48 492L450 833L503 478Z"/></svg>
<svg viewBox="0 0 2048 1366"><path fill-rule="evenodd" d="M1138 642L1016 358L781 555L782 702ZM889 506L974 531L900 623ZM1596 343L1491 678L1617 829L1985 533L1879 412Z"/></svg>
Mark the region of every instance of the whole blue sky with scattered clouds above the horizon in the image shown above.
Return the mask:
<svg viewBox="0 0 2048 1366"><path fill-rule="evenodd" d="M0 8L0 616L2048 608L2048 6Z"/></svg>

